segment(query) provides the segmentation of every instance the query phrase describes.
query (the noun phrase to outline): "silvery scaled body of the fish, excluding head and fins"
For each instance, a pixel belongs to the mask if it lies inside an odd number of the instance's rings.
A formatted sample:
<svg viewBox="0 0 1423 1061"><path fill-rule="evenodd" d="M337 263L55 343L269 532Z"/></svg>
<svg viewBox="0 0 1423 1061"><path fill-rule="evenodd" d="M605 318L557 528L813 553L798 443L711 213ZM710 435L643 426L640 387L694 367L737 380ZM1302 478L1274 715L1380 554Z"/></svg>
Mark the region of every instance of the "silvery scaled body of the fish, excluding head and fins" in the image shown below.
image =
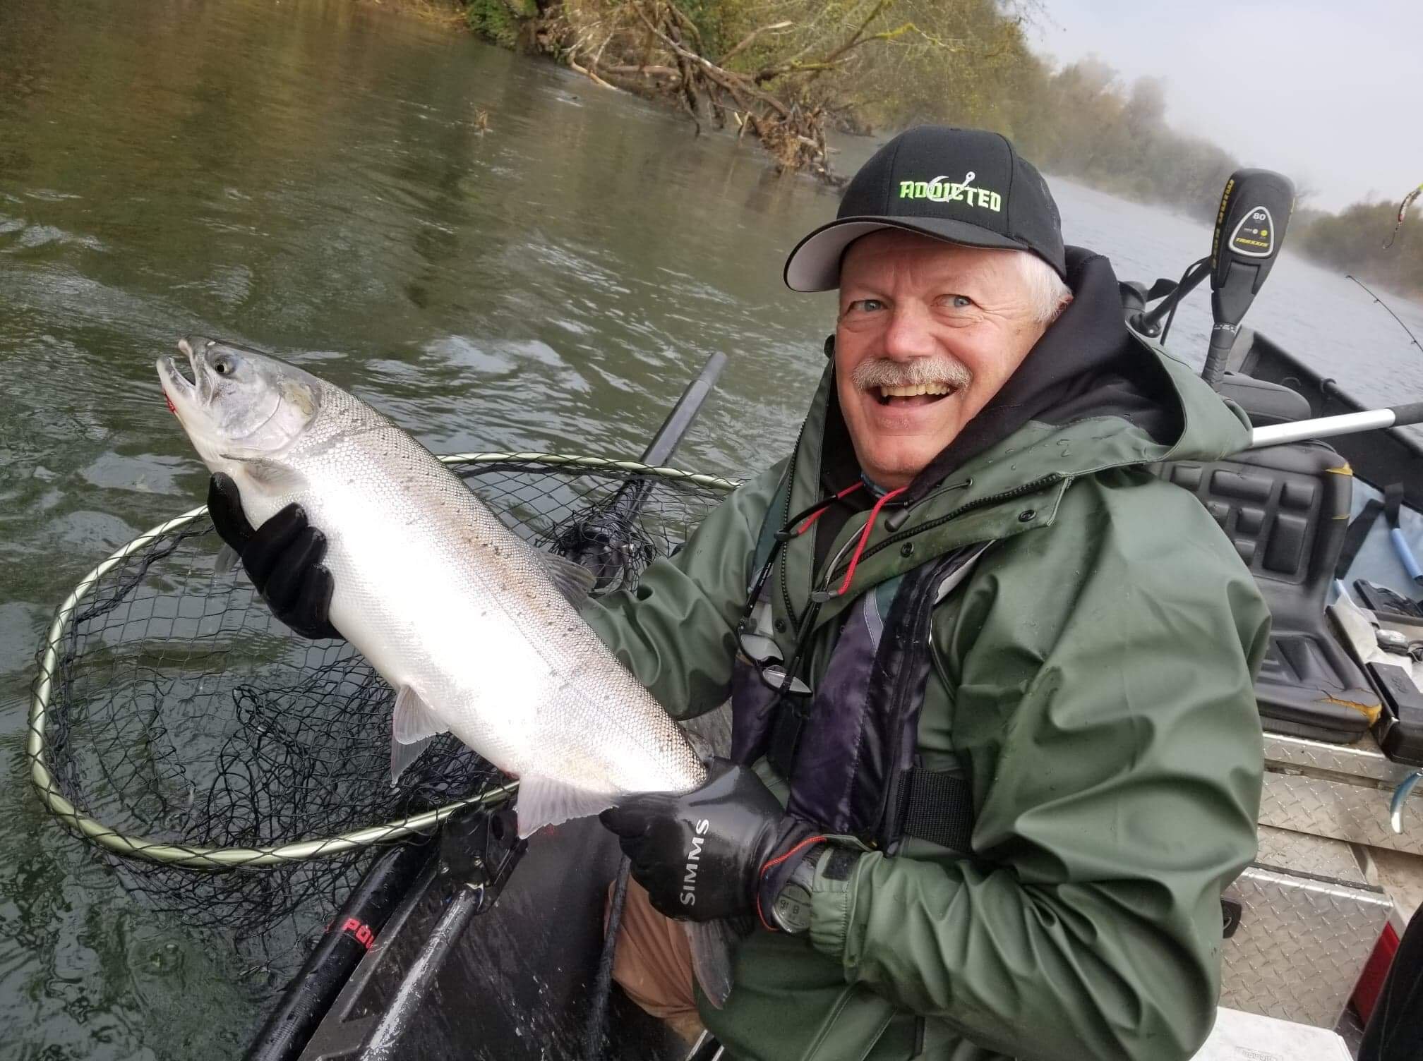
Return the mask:
<svg viewBox="0 0 1423 1061"><path fill-rule="evenodd" d="M374 410L333 387L320 407L287 458L307 485L249 518L297 501L332 528L332 620L391 684L518 777L610 798L700 784L666 711L522 539Z"/></svg>

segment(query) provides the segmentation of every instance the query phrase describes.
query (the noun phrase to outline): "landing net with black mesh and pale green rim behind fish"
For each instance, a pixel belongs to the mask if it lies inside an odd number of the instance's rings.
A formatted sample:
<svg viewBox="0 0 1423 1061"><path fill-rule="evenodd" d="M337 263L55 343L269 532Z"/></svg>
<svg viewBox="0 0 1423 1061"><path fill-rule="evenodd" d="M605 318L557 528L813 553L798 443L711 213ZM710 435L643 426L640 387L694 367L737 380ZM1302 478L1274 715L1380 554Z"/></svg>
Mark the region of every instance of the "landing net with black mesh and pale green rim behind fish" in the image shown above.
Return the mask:
<svg viewBox="0 0 1423 1061"><path fill-rule="evenodd" d="M591 563L595 593L635 585L730 485L592 458L454 469L527 540ZM128 886L276 981L373 845L418 842L431 811L502 778L445 734L393 787L394 691L344 641L287 631L219 548L205 513L175 521L80 596L41 654L30 757L50 811Z"/></svg>

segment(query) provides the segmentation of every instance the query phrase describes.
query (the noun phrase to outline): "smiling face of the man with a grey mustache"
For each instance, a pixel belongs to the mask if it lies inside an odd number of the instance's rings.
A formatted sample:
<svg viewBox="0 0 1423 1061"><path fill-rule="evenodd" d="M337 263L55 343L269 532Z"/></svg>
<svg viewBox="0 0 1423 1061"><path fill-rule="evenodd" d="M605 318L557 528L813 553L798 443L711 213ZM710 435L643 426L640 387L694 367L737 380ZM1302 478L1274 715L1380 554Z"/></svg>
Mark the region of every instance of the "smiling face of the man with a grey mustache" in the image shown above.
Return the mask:
<svg viewBox="0 0 1423 1061"><path fill-rule="evenodd" d="M1046 330L1015 253L894 229L845 252L835 385L855 457L877 485L908 486Z"/></svg>

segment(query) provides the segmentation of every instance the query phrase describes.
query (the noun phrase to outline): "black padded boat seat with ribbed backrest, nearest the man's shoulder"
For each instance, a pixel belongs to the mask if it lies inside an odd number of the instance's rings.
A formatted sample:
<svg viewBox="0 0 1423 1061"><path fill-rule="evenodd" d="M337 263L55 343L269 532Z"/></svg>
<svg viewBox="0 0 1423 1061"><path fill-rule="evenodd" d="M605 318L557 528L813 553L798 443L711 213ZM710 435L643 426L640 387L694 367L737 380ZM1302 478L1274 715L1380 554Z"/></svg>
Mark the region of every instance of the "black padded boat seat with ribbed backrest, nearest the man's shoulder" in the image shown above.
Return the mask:
<svg viewBox="0 0 1423 1061"><path fill-rule="evenodd" d="M1325 617L1349 525L1353 478L1345 459L1323 442L1294 442L1224 461L1177 461L1158 474L1200 498L1269 606L1269 649L1255 681L1265 727L1336 744L1362 737L1379 697Z"/></svg>

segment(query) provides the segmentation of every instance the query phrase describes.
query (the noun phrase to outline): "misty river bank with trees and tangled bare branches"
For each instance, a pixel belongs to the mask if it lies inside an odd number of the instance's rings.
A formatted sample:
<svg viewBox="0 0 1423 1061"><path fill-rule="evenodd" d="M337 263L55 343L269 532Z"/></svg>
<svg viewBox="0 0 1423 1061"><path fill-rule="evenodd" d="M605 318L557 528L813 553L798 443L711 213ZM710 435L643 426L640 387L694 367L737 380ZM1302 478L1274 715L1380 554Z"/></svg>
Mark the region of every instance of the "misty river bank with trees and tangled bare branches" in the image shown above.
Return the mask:
<svg viewBox="0 0 1423 1061"><path fill-rule="evenodd" d="M1032 16L992 0L386 3L423 17L458 9L491 43L660 100L699 132L706 125L760 141L778 171L832 185L847 174L832 164L828 132L888 135L925 121L999 129L1044 172L1198 220L1214 216L1227 176L1241 166L1208 139L1171 128L1163 82L1126 84L1094 57L1057 68L1029 44ZM1419 225L1405 223L1383 246L1396 212L1383 201L1328 212L1306 198L1289 242L1323 267L1423 300Z"/></svg>

